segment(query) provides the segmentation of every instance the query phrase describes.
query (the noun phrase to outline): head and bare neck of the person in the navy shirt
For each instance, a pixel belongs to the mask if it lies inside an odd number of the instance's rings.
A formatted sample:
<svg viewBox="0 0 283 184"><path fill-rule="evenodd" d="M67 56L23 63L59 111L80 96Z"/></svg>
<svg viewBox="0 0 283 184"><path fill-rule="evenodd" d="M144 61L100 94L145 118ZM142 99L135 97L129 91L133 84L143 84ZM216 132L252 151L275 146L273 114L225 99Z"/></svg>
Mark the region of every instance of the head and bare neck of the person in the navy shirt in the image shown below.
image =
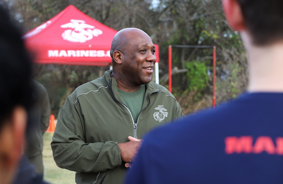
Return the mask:
<svg viewBox="0 0 283 184"><path fill-rule="evenodd" d="M249 92L283 92L283 1L222 0L231 28L239 31L248 59Z"/></svg>

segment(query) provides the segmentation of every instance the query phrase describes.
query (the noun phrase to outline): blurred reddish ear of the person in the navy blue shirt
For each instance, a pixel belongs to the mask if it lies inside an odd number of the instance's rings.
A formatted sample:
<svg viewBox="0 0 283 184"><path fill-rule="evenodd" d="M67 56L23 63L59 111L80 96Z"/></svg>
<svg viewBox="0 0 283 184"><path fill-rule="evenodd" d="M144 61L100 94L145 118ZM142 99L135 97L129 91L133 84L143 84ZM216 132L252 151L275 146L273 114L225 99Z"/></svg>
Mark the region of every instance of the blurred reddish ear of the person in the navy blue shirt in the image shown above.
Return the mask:
<svg viewBox="0 0 283 184"><path fill-rule="evenodd" d="M237 0L222 0L222 6L231 28L235 31L245 29L245 20Z"/></svg>

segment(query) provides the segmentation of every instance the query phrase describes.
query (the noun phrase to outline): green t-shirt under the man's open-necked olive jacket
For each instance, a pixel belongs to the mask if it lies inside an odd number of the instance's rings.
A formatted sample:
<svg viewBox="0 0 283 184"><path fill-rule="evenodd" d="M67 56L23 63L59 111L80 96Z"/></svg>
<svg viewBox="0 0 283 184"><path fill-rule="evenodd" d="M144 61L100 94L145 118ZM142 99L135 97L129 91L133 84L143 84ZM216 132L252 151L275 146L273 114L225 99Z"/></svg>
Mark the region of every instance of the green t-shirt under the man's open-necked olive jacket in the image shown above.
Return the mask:
<svg viewBox="0 0 283 184"><path fill-rule="evenodd" d="M125 104L128 107L128 109L130 109L131 114L136 123L143 104L143 98L145 95L145 85L142 85L140 89L134 92L125 92L119 88L118 88L118 92L121 96L122 103Z"/></svg>

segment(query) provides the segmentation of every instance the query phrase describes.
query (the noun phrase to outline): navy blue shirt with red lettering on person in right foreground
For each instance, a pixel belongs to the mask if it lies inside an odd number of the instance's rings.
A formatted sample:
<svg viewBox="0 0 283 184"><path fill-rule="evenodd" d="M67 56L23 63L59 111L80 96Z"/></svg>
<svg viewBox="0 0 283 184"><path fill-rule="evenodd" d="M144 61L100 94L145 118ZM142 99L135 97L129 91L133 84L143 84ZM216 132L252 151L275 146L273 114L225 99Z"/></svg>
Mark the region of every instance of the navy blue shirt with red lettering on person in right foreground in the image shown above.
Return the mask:
<svg viewBox="0 0 283 184"><path fill-rule="evenodd" d="M246 93L151 131L125 183L283 183L283 93Z"/></svg>

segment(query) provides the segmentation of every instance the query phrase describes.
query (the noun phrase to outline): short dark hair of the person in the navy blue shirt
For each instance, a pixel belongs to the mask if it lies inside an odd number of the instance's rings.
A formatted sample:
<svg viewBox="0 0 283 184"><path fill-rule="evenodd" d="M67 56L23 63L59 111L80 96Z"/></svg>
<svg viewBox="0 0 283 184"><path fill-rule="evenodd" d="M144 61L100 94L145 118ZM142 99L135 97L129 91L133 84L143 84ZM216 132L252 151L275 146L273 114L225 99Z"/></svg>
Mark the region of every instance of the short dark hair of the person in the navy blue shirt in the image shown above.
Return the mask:
<svg viewBox="0 0 283 184"><path fill-rule="evenodd" d="M283 39L282 0L237 0L247 29L256 45Z"/></svg>

